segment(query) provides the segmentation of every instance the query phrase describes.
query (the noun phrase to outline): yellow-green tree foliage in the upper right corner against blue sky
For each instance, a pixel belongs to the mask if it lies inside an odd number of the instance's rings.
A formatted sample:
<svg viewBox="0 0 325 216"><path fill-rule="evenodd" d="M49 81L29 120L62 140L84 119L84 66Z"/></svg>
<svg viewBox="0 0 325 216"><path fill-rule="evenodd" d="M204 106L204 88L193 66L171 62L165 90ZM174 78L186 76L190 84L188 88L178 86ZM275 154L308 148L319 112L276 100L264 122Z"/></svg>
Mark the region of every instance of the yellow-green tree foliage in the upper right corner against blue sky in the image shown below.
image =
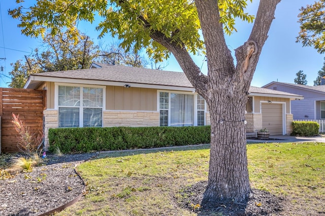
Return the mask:
<svg viewBox="0 0 325 216"><path fill-rule="evenodd" d="M300 9L298 15L300 32L296 42L314 47L318 53L325 52L325 0Z"/></svg>

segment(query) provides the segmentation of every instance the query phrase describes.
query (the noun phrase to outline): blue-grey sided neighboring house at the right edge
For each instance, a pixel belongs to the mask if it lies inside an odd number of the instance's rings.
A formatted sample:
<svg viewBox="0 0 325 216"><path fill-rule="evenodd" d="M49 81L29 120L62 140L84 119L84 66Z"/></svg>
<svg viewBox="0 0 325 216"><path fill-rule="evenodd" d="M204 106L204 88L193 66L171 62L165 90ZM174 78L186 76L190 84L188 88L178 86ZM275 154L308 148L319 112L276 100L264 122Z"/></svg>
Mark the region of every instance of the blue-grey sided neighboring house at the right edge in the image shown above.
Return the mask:
<svg viewBox="0 0 325 216"><path fill-rule="evenodd" d="M295 120L325 119L325 85L270 82L262 88L304 96L304 100L291 101L291 113Z"/></svg>

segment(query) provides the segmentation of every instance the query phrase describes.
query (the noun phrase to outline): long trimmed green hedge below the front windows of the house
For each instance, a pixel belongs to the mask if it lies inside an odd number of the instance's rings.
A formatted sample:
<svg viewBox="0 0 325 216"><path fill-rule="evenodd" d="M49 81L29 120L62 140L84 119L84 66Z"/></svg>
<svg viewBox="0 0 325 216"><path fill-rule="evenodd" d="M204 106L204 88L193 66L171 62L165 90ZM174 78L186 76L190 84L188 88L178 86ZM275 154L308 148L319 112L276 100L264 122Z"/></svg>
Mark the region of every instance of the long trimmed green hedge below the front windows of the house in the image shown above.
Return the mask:
<svg viewBox="0 0 325 216"><path fill-rule="evenodd" d="M210 143L210 126L50 128L49 150L62 153Z"/></svg>

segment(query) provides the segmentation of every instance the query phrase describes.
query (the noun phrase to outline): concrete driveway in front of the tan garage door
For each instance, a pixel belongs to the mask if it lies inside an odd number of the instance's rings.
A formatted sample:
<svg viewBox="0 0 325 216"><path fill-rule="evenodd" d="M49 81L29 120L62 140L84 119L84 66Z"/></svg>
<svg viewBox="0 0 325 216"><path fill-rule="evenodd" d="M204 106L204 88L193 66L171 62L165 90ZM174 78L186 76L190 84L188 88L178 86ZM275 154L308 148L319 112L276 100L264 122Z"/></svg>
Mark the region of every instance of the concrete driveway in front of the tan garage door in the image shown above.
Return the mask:
<svg viewBox="0 0 325 216"><path fill-rule="evenodd" d="M295 137L295 136L270 136L270 138L277 140L250 140L247 138L247 142L256 142L256 143L297 143L297 142L320 142L325 143L325 136L316 136L316 137Z"/></svg>

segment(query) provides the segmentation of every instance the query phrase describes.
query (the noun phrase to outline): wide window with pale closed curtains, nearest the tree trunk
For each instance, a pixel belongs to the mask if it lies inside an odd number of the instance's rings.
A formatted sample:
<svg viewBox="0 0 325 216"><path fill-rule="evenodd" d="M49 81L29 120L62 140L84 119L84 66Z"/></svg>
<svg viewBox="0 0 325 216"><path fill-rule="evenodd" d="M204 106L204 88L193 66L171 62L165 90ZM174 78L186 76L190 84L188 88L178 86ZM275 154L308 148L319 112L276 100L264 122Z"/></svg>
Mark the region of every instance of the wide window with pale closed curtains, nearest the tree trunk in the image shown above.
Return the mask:
<svg viewBox="0 0 325 216"><path fill-rule="evenodd" d="M204 103L201 96L194 101L193 94L159 92L160 126L204 125Z"/></svg>

